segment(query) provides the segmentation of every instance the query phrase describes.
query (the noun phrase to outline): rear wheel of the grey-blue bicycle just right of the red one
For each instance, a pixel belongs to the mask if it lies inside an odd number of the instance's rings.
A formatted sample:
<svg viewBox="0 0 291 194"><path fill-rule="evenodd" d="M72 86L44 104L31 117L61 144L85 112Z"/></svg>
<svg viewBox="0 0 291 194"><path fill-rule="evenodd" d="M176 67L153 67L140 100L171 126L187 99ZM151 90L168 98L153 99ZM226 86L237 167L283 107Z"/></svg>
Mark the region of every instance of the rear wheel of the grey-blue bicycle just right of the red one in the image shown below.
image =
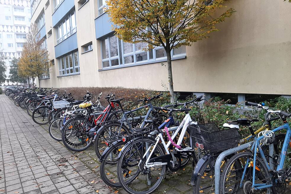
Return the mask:
<svg viewBox="0 0 291 194"><path fill-rule="evenodd" d="M108 123L102 126L101 131L98 132L94 141L94 150L98 158L101 157L102 153L108 146L108 143L105 142L105 139L117 136L119 129L120 129L119 134L125 134L128 132L128 129L125 125L121 125L120 123L117 122Z"/></svg>

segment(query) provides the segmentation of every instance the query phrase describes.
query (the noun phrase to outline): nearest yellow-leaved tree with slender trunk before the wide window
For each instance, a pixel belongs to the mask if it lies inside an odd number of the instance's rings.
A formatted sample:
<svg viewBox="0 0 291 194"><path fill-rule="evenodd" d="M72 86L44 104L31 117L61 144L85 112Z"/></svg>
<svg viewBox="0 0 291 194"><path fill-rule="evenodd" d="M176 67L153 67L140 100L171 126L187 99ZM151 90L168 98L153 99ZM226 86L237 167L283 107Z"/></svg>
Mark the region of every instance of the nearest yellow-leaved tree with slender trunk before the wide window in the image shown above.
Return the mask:
<svg viewBox="0 0 291 194"><path fill-rule="evenodd" d="M145 42L148 48L162 46L167 54L167 69L171 102L174 102L171 50L190 46L218 31L215 27L234 13L224 8L225 0L110 0L107 12L114 23L118 38L131 43ZM146 50L146 49L145 49Z"/></svg>

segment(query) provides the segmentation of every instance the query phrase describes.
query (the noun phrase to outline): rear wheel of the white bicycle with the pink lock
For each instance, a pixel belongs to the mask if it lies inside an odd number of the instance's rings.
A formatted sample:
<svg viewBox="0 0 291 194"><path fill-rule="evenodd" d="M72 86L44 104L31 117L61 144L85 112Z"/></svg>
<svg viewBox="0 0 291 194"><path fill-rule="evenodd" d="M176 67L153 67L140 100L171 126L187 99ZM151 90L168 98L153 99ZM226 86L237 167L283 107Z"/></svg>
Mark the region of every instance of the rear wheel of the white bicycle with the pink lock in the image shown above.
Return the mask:
<svg viewBox="0 0 291 194"><path fill-rule="evenodd" d="M166 165L146 167L146 150L153 150L156 140L138 138L125 147L117 163L117 177L126 192L131 194L152 193L165 177ZM153 157L165 155L163 147L157 144Z"/></svg>

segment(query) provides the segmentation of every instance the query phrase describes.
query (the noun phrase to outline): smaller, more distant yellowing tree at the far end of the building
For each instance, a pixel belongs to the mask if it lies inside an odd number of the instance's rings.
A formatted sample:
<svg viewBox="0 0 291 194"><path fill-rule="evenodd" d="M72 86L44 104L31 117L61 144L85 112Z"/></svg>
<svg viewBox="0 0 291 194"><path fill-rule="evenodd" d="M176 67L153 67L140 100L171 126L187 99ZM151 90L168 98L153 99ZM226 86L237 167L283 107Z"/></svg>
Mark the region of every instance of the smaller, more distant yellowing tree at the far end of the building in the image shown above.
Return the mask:
<svg viewBox="0 0 291 194"><path fill-rule="evenodd" d="M37 34L37 26L31 24L18 64L24 76L38 78L38 86L40 88L39 78L48 72L52 64L49 60L49 52L42 46L44 39L40 39L40 34Z"/></svg>

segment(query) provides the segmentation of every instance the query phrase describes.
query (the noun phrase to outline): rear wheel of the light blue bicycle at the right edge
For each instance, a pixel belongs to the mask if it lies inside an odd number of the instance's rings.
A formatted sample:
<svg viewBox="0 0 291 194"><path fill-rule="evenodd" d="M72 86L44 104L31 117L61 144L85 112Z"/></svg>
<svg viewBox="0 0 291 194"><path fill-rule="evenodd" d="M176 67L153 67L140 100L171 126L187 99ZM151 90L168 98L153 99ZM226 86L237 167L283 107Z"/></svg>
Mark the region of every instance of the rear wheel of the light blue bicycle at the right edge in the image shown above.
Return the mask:
<svg viewBox="0 0 291 194"><path fill-rule="evenodd" d="M256 157L254 165L250 152L237 153L226 163L220 179L220 193L253 193L253 166L255 166L255 184L271 184L269 171L261 160ZM245 170L245 175L243 172ZM271 188L255 190L255 193L270 193Z"/></svg>

